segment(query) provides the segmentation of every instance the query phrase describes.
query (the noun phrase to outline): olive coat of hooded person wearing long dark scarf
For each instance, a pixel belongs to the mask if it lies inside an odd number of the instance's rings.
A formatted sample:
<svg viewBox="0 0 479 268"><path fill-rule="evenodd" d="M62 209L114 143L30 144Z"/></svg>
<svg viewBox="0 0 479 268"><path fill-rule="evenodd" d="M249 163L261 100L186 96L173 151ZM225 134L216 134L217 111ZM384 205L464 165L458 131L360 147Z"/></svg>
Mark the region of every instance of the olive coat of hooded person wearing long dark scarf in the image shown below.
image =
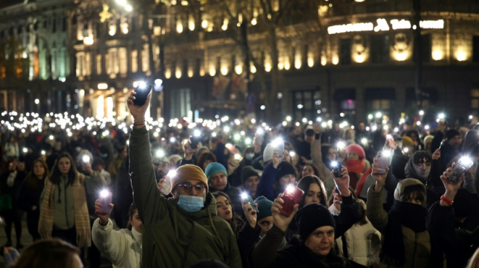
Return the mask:
<svg viewBox="0 0 479 268"><path fill-rule="evenodd" d="M400 191L403 192L402 190ZM383 191L374 191L374 185L371 185L368 191L368 203L366 215L373 224L374 228L385 235L388 225L388 213L383 209ZM429 267L431 256L431 241L429 232L426 230L420 233L414 233L411 229L401 225L405 263L402 267ZM380 267L395 266L388 263L380 263Z"/></svg>

